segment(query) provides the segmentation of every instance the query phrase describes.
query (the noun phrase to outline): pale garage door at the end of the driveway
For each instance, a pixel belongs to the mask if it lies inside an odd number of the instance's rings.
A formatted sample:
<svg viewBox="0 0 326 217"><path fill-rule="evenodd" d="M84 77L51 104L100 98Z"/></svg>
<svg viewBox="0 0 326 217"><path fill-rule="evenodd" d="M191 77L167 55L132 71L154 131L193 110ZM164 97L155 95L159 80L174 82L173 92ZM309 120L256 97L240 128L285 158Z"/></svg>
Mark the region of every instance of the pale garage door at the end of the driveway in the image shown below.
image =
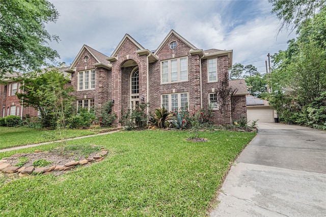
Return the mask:
<svg viewBox="0 0 326 217"><path fill-rule="evenodd" d="M274 110L271 108L248 108L247 107L247 120L252 122L258 120L262 123L274 122Z"/></svg>

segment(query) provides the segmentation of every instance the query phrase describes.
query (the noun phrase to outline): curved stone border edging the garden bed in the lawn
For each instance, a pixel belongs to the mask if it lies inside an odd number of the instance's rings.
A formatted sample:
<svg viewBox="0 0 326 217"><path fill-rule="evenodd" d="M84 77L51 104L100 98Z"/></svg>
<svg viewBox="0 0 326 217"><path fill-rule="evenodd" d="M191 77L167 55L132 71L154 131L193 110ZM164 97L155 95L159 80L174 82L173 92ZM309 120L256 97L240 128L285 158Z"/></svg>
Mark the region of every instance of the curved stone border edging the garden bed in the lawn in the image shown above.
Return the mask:
<svg viewBox="0 0 326 217"><path fill-rule="evenodd" d="M40 152L39 150L34 151L35 153ZM4 157L0 160L0 171L2 173L5 173L7 175L16 175L18 174L20 177L23 176L28 176L28 175L33 175L33 174L43 174L43 175L48 175L56 171L68 171L73 169L74 167L80 165L80 166L86 166L90 165L93 162L99 162L104 159L104 157L107 155L107 150L101 149L99 153L96 154L94 157L89 157L84 160L79 160L79 161L70 161L65 165L53 165L51 167L39 167L39 168L34 168L33 166L31 167L17 167L17 166L12 166L7 163L8 159L12 158L17 158L20 156L26 155L25 153L17 153L14 154L10 157Z"/></svg>

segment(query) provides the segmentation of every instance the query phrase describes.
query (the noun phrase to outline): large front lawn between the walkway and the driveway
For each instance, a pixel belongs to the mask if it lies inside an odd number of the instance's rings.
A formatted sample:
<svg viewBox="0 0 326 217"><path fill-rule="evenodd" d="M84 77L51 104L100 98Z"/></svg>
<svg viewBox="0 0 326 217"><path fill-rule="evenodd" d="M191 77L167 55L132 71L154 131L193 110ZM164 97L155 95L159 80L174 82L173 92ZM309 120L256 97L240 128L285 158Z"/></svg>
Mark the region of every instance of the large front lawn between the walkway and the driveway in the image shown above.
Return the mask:
<svg viewBox="0 0 326 217"><path fill-rule="evenodd" d="M55 177L0 178L2 216L205 216L221 180L255 133L129 131L68 142L108 156ZM54 144L37 147L54 148ZM59 146L60 144L56 144ZM33 149L21 150L28 152ZM9 156L18 151L0 153Z"/></svg>

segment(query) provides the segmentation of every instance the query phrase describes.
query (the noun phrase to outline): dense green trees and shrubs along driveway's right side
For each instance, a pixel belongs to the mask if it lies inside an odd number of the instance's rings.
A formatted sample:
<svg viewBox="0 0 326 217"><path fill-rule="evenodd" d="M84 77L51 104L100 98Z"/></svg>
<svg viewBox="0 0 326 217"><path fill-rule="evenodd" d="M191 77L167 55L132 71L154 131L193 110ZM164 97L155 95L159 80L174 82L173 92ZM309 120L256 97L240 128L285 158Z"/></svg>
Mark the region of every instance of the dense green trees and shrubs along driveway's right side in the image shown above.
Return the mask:
<svg viewBox="0 0 326 217"><path fill-rule="evenodd" d="M288 49L272 56L270 105L284 121L326 129L326 7L298 26Z"/></svg>

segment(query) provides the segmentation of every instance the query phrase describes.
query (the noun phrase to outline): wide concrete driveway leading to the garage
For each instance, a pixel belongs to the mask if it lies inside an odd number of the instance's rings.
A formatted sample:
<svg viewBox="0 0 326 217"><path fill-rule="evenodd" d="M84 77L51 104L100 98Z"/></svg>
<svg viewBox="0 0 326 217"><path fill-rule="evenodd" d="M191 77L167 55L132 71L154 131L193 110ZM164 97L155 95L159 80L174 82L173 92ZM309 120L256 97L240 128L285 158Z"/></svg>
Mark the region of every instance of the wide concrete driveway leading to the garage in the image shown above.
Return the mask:
<svg viewBox="0 0 326 217"><path fill-rule="evenodd" d="M326 216L326 132L260 123L210 216Z"/></svg>

